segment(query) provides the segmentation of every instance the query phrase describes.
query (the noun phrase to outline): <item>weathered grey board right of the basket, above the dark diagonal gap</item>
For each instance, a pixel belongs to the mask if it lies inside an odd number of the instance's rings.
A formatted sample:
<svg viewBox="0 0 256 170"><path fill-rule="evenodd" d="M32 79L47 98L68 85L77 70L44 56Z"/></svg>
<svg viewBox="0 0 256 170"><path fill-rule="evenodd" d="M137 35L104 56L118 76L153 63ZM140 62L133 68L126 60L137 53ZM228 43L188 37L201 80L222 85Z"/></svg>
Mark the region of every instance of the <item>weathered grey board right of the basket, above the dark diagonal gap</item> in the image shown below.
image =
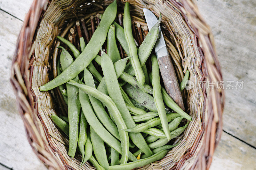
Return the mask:
<svg viewBox="0 0 256 170"><path fill-rule="evenodd" d="M256 1L199 0L211 26L225 81L244 81L225 91L223 129L256 147Z"/></svg>

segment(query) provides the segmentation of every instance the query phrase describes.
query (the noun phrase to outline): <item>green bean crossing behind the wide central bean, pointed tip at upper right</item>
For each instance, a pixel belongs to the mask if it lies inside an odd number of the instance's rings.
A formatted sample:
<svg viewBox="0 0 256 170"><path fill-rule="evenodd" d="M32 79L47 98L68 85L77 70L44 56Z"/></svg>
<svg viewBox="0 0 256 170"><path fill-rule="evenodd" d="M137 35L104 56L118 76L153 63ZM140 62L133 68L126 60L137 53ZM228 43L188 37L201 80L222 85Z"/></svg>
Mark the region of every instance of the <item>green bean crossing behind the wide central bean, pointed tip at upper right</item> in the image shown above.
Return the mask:
<svg viewBox="0 0 256 170"><path fill-rule="evenodd" d="M125 65L126 65L126 62L127 60L129 59L130 57L126 57L126 58L123 58L121 60L118 60L116 63L114 63L114 68L115 68L115 71L116 71L116 76L117 78L122 74L122 72L124 71L124 68L125 68ZM105 82L105 78L103 77L99 86L97 87L97 89L100 91L100 92L103 92L104 94L108 95L108 90L107 90L107 86L106 86L106 82Z"/></svg>

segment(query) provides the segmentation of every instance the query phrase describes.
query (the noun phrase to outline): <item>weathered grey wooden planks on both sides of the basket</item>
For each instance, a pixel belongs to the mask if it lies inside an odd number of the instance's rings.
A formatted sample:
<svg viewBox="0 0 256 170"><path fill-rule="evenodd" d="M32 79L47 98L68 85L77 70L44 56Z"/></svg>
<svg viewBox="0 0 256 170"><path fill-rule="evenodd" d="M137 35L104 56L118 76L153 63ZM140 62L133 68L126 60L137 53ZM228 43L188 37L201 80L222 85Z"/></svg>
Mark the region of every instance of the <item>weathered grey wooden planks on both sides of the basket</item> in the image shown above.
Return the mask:
<svg viewBox="0 0 256 170"><path fill-rule="evenodd" d="M28 144L9 82L12 55L32 0L0 0L0 169L45 170ZM226 90L223 133L211 170L256 169L256 3L254 0L197 0L215 35L224 80L244 80Z"/></svg>

